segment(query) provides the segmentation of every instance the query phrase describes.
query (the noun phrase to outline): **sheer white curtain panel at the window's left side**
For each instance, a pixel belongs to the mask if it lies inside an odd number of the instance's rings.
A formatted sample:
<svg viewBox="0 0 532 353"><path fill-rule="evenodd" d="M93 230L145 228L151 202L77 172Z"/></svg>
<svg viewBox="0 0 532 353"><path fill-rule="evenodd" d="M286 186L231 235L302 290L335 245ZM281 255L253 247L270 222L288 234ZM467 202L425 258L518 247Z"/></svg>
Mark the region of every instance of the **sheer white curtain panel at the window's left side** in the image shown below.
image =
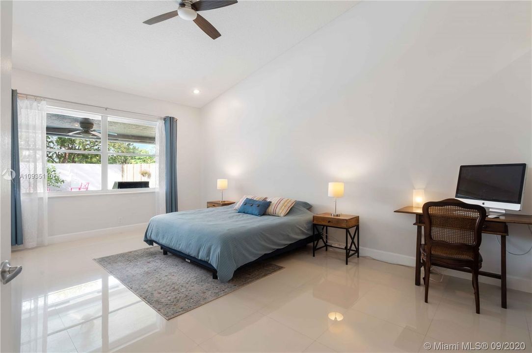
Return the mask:
<svg viewBox="0 0 532 353"><path fill-rule="evenodd" d="M23 247L46 245L46 102L18 100Z"/></svg>

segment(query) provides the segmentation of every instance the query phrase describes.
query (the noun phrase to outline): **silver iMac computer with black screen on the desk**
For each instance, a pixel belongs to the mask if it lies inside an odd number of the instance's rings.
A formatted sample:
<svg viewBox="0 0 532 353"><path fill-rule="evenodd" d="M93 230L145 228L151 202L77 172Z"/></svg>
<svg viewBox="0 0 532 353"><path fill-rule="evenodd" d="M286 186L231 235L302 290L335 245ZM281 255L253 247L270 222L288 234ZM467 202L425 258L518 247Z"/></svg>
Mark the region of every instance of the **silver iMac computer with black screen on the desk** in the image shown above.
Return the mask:
<svg viewBox="0 0 532 353"><path fill-rule="evenodd" d="M456 186L456 199L488 208L488 217L497 217L505 209L520 211L525 192L527 165L462 165Z"/></svg>

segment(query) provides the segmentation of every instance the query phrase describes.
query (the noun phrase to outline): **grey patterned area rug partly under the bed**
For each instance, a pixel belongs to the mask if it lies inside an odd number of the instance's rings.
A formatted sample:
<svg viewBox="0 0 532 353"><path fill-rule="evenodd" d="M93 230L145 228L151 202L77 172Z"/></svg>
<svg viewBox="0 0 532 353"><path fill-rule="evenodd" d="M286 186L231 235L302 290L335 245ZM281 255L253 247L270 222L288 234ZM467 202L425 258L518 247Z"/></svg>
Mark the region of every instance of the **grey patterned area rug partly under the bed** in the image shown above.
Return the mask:
<svg viewBox="0 0 532 353"><path fill-rule="evenodd" d="M282 270L271 263L257 263L235 272L227 283L212 279L212 272L159 247L94 259L165 319L179 316L226 294Z"/></svg>

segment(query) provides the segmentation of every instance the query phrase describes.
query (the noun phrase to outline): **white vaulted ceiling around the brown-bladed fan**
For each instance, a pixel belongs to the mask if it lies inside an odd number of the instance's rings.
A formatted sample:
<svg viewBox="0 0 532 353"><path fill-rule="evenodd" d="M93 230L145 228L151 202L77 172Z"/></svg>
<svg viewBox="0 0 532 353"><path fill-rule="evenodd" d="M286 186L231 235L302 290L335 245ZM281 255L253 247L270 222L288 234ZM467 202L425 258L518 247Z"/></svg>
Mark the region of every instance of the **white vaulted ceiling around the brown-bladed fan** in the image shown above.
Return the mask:
<svg viewBox="0 0 532 353"><path fill-rule="evenodd" d="M13 67L201 107L354 4L241 0L201 12L212 40L178 17L142 23L174 1L16 1Z"/></svg>

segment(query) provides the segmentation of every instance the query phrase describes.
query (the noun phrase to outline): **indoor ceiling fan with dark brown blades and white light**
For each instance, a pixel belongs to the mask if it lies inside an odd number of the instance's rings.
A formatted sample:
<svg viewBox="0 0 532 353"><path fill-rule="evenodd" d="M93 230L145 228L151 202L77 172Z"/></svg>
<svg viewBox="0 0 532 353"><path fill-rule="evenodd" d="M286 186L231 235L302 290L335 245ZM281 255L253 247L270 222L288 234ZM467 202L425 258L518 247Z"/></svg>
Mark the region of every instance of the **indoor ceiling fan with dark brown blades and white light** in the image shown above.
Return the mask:
<svg viewBox="0 0 532 353"><path fill-rule="evenodd" d="M179 8L177 10L155 16L143 23L155 24L179 16L184 20L194 21L207 36L216 39L221 36L220 32L209 21L205 20L203 16L198 14L197 11L219 9L220 7L236 4L237 2L237 0L199 0L196 2L192 2L192 0L181 0L179 1Z"/></svg>

